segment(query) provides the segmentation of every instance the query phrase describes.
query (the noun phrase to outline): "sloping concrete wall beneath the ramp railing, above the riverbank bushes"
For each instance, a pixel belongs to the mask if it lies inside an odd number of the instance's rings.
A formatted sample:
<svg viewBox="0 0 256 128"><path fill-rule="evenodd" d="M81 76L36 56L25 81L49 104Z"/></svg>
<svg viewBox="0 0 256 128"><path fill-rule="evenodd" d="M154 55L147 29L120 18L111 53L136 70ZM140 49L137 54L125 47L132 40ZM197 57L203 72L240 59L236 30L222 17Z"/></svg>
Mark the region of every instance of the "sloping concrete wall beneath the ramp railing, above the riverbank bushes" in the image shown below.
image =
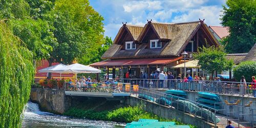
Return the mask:
<svg viewBox="0 0 256 128"><path fill-rule="evenodd" d="M201 120L200 118L194 117L193 115L189 115L187 113L183 113L181 111L168 108L164 105L159 105L155 102L139 99L132 96L127 98L125 102L131 106L135 106L137 104L142 103L144 104L145 111L154 113L162 118L177 119L183 123L193 124L198 127L214 127L214 125L207 123L204 120Z"/></svg>

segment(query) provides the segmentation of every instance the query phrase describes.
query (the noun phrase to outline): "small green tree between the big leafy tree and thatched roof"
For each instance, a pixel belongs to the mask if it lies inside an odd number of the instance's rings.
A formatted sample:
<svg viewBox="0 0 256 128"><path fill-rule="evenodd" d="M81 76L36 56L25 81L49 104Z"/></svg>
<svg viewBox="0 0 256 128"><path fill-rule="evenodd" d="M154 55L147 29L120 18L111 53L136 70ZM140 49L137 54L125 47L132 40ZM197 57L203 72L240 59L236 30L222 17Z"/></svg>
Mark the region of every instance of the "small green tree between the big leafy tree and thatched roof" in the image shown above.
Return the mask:
<svg viewBox="0 0 256 128"><path fill-rule="evenodd" d="M98 49L92 51L90 54L87 54L86 56L83 56L79 59L80 63L83 63L84 65L90 65L94 62L101 61L101 56L105 53L106 50L109 49L109 47L113 44L113 41L111 37L106 36L104 38L105 42L104 44L99 47Z"/></svg>

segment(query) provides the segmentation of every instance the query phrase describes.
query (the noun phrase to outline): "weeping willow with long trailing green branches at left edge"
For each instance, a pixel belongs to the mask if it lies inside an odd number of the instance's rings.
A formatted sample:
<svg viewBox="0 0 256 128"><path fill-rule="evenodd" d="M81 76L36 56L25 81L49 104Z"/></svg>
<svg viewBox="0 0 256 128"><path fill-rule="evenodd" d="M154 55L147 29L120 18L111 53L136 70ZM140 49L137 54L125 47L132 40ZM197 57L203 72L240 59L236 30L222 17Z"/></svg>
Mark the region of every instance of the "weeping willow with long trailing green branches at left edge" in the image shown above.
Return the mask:
<svg viewBox="0 0 256 128"><path fill-rule="evenodd" d="M0 127L19 127L30 95L32 53L0 21Z"/></svg>

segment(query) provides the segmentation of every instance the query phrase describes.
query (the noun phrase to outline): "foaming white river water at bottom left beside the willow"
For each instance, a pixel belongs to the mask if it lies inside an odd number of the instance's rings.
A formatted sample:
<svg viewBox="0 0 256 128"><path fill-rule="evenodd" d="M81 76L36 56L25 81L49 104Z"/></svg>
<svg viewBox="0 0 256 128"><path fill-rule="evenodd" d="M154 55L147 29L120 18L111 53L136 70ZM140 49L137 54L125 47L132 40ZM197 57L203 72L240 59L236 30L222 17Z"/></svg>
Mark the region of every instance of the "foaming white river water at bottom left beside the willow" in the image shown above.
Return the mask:
<svg viewBox="0 0 256 128"><path fill-rule="evenodd" d="M124 127L124 124L100 120L75 119L47 112L41 112L38 104L28 102L22 127Z"/></svg>

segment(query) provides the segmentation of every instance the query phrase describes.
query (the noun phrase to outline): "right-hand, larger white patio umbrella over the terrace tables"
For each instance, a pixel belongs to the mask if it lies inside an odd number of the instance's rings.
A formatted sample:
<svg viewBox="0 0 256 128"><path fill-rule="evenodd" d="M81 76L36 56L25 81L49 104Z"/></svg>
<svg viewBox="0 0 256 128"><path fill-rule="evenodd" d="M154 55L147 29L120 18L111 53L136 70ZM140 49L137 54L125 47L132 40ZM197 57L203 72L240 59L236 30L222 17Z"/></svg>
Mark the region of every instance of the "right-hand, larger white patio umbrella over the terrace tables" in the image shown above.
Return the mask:
<svg viewBox="0 0 256 128"><path fill-rule="evenodd" d="M73 65L62 67L62 68L56 70L56 72L75 73L76 74L76 79L77 79L77 74L78 73L100 73L101 70L95 69L95 68L90 67L90 66L84 66L84 65L81 65L79 63L74 63Z"/></svg>

